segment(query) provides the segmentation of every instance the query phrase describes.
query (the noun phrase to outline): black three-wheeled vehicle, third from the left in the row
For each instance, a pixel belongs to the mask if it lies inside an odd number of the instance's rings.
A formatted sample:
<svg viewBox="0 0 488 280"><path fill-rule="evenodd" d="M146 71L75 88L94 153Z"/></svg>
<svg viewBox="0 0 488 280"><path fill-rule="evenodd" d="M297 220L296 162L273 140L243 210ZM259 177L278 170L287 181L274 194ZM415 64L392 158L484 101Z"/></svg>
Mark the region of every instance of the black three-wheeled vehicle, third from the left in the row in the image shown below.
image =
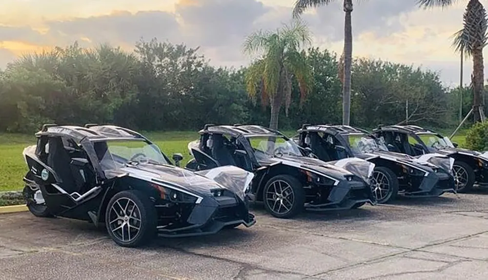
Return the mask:
<svg viewBox="0 0 488 280"><path fill-rule="evenodd" d="M397 194L427 197L455 193L454 160L445 155L415 158L388 151L366 130L344 125L303 125L298 132L298 144L324 161L359 157L374 163L372 184L378 203L391 201Z"/></svg>

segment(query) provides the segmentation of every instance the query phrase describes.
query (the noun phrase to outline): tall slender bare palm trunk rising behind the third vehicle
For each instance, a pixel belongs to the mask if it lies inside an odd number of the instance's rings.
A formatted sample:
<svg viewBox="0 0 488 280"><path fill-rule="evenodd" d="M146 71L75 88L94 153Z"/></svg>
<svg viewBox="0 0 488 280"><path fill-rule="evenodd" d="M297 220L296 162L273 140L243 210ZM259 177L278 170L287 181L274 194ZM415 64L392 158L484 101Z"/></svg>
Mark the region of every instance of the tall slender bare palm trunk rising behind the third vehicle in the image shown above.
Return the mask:
<svg viewBox="0 0 488 280"><path fill-rule="evenodd" d="M342 123L349 125L351 115L351 64L352 64L352 0L344 0L344 83L342 86Z"/></svg>

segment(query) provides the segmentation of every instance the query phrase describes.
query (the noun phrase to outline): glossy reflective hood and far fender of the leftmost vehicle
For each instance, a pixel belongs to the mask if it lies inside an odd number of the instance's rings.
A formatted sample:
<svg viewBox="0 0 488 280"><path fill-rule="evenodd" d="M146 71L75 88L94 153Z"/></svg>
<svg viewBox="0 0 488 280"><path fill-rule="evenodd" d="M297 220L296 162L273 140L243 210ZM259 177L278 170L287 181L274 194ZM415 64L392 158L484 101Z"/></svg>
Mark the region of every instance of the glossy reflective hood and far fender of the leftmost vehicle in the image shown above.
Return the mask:
<svg viewBox="0 0 488 280"><path fill-rule="evenodd" d="M186 192L212 195L214 189L228 189L238 194L244 200L244 192L248 190L253 173L234 166L224 166L201 172L192 172L183 168L140 163L135 166L124 167L119 170L129 176L146 180L166 183Z"/></svg>

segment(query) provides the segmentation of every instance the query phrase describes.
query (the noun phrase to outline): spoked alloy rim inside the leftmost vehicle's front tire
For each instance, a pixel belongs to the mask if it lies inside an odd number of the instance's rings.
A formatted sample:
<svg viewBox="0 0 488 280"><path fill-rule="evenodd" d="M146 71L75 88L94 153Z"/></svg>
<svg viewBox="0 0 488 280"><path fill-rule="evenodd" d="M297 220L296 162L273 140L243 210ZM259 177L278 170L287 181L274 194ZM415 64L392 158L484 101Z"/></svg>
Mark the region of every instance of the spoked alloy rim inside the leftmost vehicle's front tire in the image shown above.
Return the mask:
<svg viewBox="0 0 488 280"><path fill-rule="evenodd" d="M109 228L122 242L134 240L141 231L141 211L130 198L121 197L112 204Z"/></svg>

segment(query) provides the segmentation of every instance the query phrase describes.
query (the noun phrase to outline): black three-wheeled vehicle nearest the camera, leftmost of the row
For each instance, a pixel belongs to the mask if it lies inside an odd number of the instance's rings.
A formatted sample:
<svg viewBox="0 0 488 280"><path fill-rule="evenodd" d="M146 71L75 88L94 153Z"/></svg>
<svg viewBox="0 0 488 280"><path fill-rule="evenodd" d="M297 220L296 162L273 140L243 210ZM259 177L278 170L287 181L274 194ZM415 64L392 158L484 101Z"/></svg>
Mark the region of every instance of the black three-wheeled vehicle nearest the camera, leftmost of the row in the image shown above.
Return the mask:
<svg viewBox="0 0 488 280"><path fill-rule="evenodd" d="M255 223L244 199L252 172L175 167L141 134L116 126L44 125L36 137L23 151L24 196L36 216L103 223L127 247Z"/></svg>

